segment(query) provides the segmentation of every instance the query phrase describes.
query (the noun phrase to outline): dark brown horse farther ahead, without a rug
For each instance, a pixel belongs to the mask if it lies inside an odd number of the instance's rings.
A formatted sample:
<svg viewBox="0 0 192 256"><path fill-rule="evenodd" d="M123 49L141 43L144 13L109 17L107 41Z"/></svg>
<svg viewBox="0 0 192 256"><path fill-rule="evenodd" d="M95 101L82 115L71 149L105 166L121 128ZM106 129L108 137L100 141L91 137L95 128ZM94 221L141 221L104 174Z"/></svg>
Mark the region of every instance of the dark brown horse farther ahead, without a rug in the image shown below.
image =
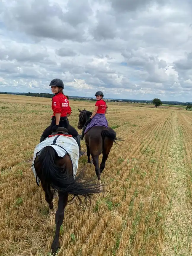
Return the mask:
<svg viewBox="0 0 192 256"><path fill-rule="evenodd" d="M78 108L78 110L80 113L77 128L81 130L84 127L85 122L92 115L92 112L87 111L85 108L84 110L80 110ZM116 140L121 141L122 139L116 137L116 132L111 127L107 128L104 126L93 126L85 133L84 138L87 147L87 162L91 164L91 155L98 182L101 184L101 173L105 168L105 162L108 159L108 155L113 146L113 142L116 143ZM103 157L99 167L99 156L101 153L103 153Z"/></svg>

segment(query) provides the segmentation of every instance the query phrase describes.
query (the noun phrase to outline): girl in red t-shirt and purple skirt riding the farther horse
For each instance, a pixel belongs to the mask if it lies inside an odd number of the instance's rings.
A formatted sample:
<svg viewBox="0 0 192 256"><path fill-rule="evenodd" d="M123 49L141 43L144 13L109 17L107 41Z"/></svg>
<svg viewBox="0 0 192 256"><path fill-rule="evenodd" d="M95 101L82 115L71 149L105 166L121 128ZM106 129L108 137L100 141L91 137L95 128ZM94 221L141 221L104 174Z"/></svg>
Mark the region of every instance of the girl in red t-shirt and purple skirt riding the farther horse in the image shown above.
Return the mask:
<svg viewBox="0 0 192 256"><path fill-rule="evenodd" d="M98 91L95 93L97 102L95 103L95 108L90 116L90 118L87 120L87 122L84 124L81 140L84 138L84 133L87 132L88 129L95 125L101 125L108 128L108 121L105 117L105 114L107 113L107 104L105 100L103 100L103 92Z"/></svg>

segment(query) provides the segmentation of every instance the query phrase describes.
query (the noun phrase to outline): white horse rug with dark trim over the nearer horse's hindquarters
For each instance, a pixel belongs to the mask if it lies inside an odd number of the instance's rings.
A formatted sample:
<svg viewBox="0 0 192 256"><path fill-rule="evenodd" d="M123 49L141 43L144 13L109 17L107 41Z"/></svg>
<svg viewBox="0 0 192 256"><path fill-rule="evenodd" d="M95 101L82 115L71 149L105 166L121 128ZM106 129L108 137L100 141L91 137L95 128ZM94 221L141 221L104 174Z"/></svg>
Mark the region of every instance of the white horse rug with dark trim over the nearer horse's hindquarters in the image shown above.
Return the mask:
<svg viewBox="0 0 192 256"><path fill-rule="evenodd" d="M66 153L69 154L73 164L73 176L75 176L78 169L79 146L73 137L55 135L52 137L48 137L41 143L37 144L35 151L33 153L32 170L35 175L37 185L39 186L40 179L36 175L36 171L33 164L36 159L36 156L38 156L41 153L40 151L47 146L51 146L52 148L54 148L55 152L60 157L64 157Z"/></svg>

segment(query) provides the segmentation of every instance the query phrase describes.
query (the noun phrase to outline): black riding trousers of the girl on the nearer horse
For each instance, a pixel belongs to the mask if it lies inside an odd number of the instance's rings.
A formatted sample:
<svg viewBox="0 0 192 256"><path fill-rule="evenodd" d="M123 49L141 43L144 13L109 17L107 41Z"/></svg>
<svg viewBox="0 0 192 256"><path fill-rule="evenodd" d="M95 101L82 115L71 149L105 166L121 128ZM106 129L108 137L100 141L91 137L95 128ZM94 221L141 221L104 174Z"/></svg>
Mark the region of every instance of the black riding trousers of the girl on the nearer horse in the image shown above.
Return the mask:
<svg viewBox="0 0 192 256"><path fill-rule="evenodd" d="M41 136L41 141L43 141L45 138L47 138L49 135L52 134L52 127L55 125L55 121L56 121L55 117L52 117L51 124L44 130L44 132ZM76 131L76 129L69 124L69 120L67 117L60 118L59 126L68 129L69 134L74 137L79 135L78 132Z"/></svg>

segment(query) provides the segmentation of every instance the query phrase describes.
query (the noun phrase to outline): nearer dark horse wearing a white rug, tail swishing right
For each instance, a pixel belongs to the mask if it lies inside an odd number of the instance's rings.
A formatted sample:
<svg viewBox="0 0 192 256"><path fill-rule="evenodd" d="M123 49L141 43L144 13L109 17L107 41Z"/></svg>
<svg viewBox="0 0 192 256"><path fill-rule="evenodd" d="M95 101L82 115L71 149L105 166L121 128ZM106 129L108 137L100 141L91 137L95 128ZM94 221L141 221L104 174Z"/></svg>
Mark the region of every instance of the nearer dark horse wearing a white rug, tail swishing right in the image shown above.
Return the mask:
<svg viewBox="0 0 192 256"><path fill-rule="evenodd" d="M64 153L64 156L61 157L58 156L58 152L56 153L55 148L52 147L53 145L51 146L49 144L49 146L43 147L42 143L44 143L44 140L38 144L41 144L41 148L43 148L38 153L36 153L37 150L34 151L33 162L31 165L31 167L34 168L33 172L35 170L34 175L36 177L37 185L39 185L38 180L41 181L41 186L45 192L45 200L49 204L49 213L55 214L56 230L55 237L51 245L52 252L55 254L57 249L60 247L60 226L63 223L64 210L68 201L75 199L74 201L77 204L79 200L78 205L80 205L82 203L80 196L83 196L85 199L85 205L87 205L88 201L91 204L92 196L103 191L103 188L100 185L94 184L93 179L84 180L82 170L74 176L74 163L72 160L78 163L79 147L75 141L75 138L68 134L67 129L58 127L57 131L52 133L52 135L49 135L49 137L52 137L52 139L55 141L55 144L53 143L55 147L57 147L57 143L59 143L57 142L57 140L59 141L58 137L60 137L60 140L61 137L62 140L64 140L63 145L69 145L71 143L70 146L72 146L71 151L69 151L70 155L68 150L65 150L66 152ZM48 138L46 141L48 143ZM74 156L75 160L72 158ZM53 193L51 192L51 189L55 189L55 191L58 193L59 199L57 211L53 205ZM71 200L68 199L69 194L73 195Z"/></svg>

